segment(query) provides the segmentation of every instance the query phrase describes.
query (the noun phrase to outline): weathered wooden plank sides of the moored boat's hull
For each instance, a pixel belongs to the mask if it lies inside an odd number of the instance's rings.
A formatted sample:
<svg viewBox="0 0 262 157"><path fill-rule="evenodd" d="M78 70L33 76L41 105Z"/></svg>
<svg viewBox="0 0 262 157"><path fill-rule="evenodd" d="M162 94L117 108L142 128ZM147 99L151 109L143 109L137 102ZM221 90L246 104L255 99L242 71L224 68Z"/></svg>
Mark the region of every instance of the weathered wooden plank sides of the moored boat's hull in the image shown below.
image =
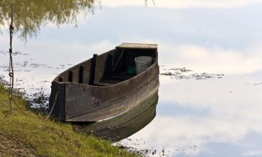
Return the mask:
<svg viewBox="0 0 262 157"><path fill-rule="evenodd" d="M152 66L139 75L110 86L90 85L89 73L92 60L84 61L61 73L52 82L50 111L60 121L105 121L118 117L146 100L159 87L157 50L147 50L154 56ZM133 53L133 52L132 52ZM136 55L138 55L137 53ZM116 50L101 54L96 59L94 82L99 82L105 73L105 61L109 54L119 56ZM81 79L80 79L80 72ZM66 80L66 79L67 80ZM63 82L61 82L63 80ZM81 82L81 83L79 83Z"/></svg>

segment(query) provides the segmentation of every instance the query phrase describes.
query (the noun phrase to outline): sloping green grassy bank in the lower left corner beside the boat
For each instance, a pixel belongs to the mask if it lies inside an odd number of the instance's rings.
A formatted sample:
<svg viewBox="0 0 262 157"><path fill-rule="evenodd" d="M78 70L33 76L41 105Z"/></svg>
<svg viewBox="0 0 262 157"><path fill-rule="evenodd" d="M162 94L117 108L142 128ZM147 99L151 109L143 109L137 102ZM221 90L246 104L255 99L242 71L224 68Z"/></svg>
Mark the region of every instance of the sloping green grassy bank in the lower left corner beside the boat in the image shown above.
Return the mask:
<svg viewBox="0 0 262 157"><path fill-rule="evenodd" d="M10 112L8 91L0 85L0 156L136 156L28 110L22 98L14 100Z"/></svg>

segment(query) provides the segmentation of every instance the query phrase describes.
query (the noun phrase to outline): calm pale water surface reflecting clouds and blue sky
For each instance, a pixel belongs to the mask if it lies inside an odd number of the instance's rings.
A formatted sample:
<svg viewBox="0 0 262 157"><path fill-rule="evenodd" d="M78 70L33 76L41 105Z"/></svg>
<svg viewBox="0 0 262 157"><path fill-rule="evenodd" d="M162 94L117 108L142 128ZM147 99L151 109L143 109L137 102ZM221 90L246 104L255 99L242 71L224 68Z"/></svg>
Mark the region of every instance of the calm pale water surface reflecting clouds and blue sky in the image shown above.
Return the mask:
<svg viewBox="0 0 262 157"><path fill-rule="evenodd" d="M262 156L262 1L154 2L88 1L65 5L73 14L63 12L64 20L56 19L60 7L17 22L16 87L50 92L57 74L93 53L158 43L161 73L193 71L178 74L182 79L160 75L157 116L120 144L149 156ZM8 30L0 23L0 75L7 79Z"/></svg>

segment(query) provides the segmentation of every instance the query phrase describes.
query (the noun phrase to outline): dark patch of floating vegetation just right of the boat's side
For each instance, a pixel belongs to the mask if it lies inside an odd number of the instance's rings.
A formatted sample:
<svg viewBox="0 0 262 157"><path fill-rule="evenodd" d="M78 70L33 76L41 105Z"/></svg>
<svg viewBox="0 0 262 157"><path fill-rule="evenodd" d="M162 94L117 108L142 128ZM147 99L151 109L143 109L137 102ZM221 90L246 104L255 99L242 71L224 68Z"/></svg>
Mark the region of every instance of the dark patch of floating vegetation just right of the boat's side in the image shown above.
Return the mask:
<svg viewBox="0 0 262 157"><path fill-rule="evenodd" d="M222 78L224 74L213 74L213 73L189 73L193 70L189 70L187 68L170 68L170 69L163 69L164 73L160 73L159 75L166 75L170 76L171 79L177 80L189 80L189 79L196 79L196 80L205 80L210 78ZM189 74L188 74L189 73Z"/></svg>

